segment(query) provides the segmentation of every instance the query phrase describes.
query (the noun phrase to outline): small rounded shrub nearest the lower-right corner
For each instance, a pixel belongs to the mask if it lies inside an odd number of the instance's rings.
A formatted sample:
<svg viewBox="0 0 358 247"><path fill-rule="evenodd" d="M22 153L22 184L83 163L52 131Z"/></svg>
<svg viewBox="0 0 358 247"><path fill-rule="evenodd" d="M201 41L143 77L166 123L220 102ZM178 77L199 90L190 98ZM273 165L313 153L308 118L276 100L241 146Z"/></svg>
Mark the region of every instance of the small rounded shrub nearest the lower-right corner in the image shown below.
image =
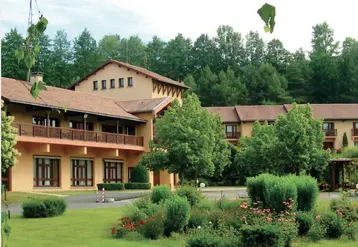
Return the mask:
<svg viewBox="0 0 358 247"><path fill-rule="evenodd" d="M321 216L321 224L323 225L326 237L340 238L344 232L343 219L334 212L327 212Z"/></svg>

